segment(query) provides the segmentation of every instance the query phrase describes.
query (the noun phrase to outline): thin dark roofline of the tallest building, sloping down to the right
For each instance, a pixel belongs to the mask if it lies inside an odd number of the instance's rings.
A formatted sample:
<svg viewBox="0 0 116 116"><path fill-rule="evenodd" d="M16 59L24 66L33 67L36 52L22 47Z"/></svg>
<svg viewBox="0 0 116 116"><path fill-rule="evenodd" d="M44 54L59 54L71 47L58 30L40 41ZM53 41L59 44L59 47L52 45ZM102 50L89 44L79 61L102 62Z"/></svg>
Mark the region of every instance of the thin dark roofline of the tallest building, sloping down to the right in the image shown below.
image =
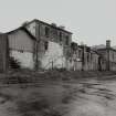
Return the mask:
<svg viewBox="0 0 116 116"><path fill-rule="evenodd" d="M43 21L38 20L38 19L34 19L34 20L28 22L27 25L30 24L30 23L32 23L32 22L43 23L43 24L46 24L46 25L49 25L49 27L52 27L52 28L54 28L54 29L56 29L56 30L64 31L64 32L66 32L66 33L73 34L73 33L70 32L70 31L66 31L66 30L60 29L59 27L53 27L52 24L49 24L49 23L43 22Z"/></svg>

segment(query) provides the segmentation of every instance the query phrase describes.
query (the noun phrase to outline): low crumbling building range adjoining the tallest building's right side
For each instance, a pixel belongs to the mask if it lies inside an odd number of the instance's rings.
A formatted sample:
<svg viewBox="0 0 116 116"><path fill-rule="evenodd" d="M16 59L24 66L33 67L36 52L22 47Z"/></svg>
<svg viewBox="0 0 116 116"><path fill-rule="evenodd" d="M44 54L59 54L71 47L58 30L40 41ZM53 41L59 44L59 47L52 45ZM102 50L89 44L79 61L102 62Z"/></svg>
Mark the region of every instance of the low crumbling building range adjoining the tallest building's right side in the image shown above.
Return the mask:
<svg viewBox="0 0 116 116"><path fill-rule="evenodd" d="M86 45L77 45L72 42L71 56L68 61L70 70L74 71L97 71L99 54Z"/></svg>

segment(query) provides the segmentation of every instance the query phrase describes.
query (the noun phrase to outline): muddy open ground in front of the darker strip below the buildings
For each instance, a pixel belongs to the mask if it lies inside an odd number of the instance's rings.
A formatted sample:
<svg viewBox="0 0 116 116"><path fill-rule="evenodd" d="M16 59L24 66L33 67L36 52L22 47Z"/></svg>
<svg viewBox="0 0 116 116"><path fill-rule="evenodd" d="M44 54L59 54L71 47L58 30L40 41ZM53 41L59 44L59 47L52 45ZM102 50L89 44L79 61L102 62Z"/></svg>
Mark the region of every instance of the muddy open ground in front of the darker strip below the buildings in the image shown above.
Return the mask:
<svg viewBox="0 0 116 116"><path fill-rule="evenodd" d="M0 116L116 116L116 76L0 87Z"/></svg>

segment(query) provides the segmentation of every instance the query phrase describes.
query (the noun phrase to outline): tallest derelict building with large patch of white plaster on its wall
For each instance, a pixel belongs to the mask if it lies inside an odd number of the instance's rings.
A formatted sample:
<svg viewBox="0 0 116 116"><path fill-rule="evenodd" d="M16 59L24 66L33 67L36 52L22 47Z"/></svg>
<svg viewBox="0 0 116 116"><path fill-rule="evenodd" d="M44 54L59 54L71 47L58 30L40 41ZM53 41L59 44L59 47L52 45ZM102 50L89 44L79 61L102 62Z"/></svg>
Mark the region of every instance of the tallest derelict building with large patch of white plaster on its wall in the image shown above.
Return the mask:
<svg viewBox="0 0 116 116"><path fill-rule="evenodd" d="M55 23L48 24L39 20L29 22L25 28L36 39L36 68L67 67L66 52L71 48L71 32L66 31L64 27L57 27Z"/></svg>

